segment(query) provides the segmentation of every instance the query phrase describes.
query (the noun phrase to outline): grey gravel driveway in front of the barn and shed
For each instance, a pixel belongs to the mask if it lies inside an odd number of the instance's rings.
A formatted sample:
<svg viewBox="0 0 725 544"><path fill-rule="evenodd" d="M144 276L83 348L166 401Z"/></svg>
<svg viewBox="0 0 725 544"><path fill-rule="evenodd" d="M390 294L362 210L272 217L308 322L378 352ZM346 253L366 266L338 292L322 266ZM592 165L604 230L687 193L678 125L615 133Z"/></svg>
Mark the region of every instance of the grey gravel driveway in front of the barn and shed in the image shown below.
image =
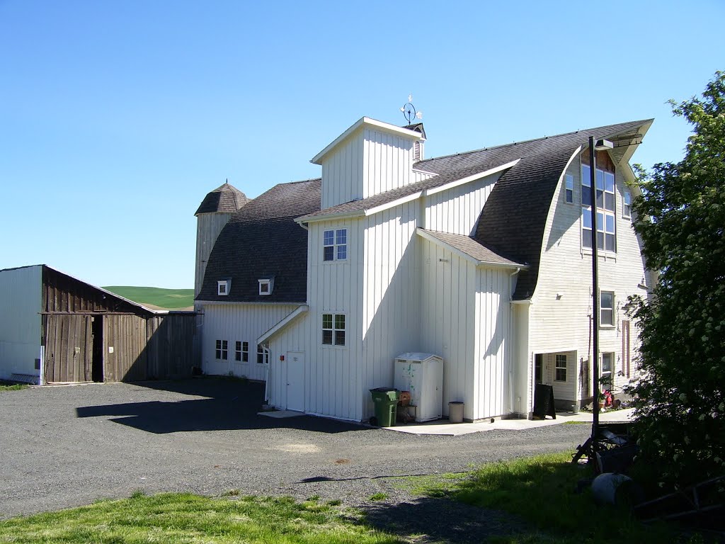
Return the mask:
<svg viewBox="0 0 725 544"><path fill-rule="evenodd" d="M339 498L401 534L480 542L515 520L410 497L390 477L565 450L589 432L587 425L554 425L421 436L311 416L273 419L256 415L263 390L205 378L0 393L0 518L128 497L139 489L240 490ZM370 503L373 493L388 499Z"/></svg>

